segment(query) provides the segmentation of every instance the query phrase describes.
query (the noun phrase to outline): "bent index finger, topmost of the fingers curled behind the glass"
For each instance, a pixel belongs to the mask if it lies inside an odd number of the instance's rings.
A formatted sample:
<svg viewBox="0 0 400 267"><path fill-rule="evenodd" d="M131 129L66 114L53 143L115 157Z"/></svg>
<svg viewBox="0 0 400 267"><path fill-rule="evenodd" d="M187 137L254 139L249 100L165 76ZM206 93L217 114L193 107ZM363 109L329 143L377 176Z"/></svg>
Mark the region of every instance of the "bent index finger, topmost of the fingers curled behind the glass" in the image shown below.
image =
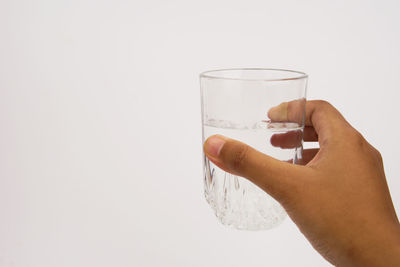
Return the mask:
<svg viewBox="0 0 400 267"><path fill-rule="evenodd" d="M268 117L272 121L289 121L302 125L301 116L304 113L302 104L305 103L305 126L312 126L315 130L310 133L314 136L307 138L316 139L320 142L321 147L329 140L334 139L334 133L348 126L343 116L331 104L326 101L314 100L305 102L304 99L294 100L291 102L283 102L273 107L268 112Z"/></svg>

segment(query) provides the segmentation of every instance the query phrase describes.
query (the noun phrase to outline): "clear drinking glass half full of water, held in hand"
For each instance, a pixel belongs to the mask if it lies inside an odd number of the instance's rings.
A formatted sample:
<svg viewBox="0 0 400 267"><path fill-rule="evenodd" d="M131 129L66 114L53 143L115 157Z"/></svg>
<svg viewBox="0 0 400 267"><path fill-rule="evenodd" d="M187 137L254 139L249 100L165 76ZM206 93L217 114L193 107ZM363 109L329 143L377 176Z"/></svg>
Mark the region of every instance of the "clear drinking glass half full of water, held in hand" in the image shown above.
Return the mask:
<svg viewBox="0 0 400 267"><path fill-rule="evenodd" d="M276 159L299 162L303 150L305 73L280 69L215 70L200 74L200 83L203 143L209 136L221 134ZM293 103L290 106L295 109L295 118L271 120L268 111L285 103ZM203 159L205 197L223 224L263 230L285 219L284 209L267 193L243 177L224 172L204 153Z"/></svg>

